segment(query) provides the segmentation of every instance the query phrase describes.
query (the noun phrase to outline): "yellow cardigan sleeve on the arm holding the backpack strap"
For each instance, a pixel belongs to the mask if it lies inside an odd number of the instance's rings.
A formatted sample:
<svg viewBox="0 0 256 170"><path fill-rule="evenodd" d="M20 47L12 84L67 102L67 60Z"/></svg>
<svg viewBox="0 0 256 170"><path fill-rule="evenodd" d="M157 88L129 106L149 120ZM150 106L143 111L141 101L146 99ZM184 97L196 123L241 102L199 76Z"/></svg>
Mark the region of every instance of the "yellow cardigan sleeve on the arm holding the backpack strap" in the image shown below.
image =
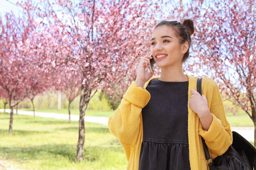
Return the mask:
<svg viewBox="0 0 256 170"><path fill-rule="evenodd" d="M204 78L202 86L202 93L207 97L213 121L208 131L205 131L200 124L199 134L205 139L205 143L214 159L224 154L232 144L232 131L228 120L226 120L224 105L217 84L212 79Z"/></svg>

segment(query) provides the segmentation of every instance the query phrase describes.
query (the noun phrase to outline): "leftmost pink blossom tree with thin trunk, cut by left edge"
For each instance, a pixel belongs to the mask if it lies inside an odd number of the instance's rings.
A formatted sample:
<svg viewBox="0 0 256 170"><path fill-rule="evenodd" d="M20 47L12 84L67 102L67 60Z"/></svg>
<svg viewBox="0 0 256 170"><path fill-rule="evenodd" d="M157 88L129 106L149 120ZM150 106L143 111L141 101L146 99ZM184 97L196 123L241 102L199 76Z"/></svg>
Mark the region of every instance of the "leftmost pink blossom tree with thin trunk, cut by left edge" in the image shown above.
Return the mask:
<svg viewBox="0 0 256 170"><path fill-rule="evenodd" d="M20 18L12 12L0 19L0 86L7 92L11 110L9 133L13 131L13 108L38 86L40 73L51 70L47 46L42 46L49 40L38 36L32 21L29 15Z"/></svg>

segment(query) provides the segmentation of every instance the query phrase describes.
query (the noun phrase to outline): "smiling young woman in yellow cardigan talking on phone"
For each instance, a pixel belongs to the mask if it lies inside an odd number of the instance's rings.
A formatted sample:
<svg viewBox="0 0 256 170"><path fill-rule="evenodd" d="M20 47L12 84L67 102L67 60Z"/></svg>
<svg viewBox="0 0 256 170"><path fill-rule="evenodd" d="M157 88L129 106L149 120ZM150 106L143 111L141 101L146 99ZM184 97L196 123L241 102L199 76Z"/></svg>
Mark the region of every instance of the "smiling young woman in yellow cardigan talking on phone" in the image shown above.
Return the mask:
<svg viewBox="0 0 256 170"><path fill-rule="evenodd" d="M141 59L137 78L109 118L109 129L121 142L127 169L208 169L201 137L211 158L232 144L217 84L203 78L201 96L197 77L185 75L193 21L158 23L151 37L151 54L160 78L148 72L152 57Z"/></svg>

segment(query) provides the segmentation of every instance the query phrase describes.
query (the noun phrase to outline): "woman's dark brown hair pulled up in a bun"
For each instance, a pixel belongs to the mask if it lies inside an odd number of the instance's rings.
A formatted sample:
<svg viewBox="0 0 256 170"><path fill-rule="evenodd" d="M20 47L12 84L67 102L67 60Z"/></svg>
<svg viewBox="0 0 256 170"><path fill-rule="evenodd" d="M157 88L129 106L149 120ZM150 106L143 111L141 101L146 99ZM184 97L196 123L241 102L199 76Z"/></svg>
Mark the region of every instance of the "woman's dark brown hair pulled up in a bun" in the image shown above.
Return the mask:
<svg viewBox="0 0 256 170"><path fill-rule="evenodd" d="M174 29L174 31L176 32L176 36L180 40L180 44L183 44L184 42L188 41L188 51L184 54L183 57L183 62L185 62L189 56L189 48L191 46L191 35L195 32L193 20L185 19L182 24L180 24L180 22L177 21L163 20L162 22L156 24L155 28L160 27L162 25L166 25Z"/></svg>

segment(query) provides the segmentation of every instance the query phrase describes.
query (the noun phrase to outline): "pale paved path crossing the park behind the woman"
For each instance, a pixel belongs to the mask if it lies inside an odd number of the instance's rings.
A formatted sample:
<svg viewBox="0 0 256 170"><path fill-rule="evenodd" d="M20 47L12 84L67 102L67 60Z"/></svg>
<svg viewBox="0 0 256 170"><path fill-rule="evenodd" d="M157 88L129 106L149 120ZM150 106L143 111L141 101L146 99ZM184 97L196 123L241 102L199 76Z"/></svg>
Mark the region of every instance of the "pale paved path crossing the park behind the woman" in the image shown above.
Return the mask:
<svg viewBox="0 0 256 170"><path fill-rule="evenodd" d="M0 109L0 112L3 112L3 109ZM6 109L6 112L10 113L10 109ZM15 111L14 114L16 114ZM18 114L34 116L32 111L18 111ZM68 120L68 114L42 112L35 112L35 114L39 117L49 117ZM71 114L71 121L79 121L79 115ZM108 117L85 116L85 121L108 125ZM241 134L245 139L247 139L247 141L254 141L254 127L231 127L231 130Z"/></svg>

